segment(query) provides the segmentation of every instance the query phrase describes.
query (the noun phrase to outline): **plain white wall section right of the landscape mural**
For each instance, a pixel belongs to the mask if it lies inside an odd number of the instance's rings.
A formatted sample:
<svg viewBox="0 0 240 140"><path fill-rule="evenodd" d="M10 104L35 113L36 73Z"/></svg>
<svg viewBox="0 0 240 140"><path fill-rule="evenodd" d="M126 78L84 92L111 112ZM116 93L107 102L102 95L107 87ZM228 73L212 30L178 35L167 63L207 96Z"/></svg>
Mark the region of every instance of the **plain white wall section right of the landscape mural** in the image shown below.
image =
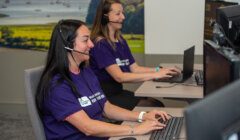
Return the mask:
<svg viewBox="0 0 240 140"><path fill-rule="evenodd" d="M203 54L205 0L145 0L145 53Z"/></svg>

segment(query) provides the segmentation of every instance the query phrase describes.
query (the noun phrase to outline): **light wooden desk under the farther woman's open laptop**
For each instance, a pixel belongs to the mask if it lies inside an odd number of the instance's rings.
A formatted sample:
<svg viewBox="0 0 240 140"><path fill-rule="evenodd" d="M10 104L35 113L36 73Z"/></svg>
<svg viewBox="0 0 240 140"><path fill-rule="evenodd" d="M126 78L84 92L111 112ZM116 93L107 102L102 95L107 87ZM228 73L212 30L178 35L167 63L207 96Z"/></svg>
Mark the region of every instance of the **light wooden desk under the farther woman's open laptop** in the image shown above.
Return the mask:
<svg viewBox="0 0 240 140"><path fill-rule="evenodd" d="M162 66L180 66L180 64L162 64ZM195 64L194 69L203 69L202 64ZM169 97L169 98L203 98L203 87L197 86L194 74L183 84L145 81L135 91L135 96L141 97ZM188 86L193 85L193 86ZM156 88L156 87L160 88ZM173 87L171 87L173 86ZM161 88L162 87L162 88Z"/></svg>

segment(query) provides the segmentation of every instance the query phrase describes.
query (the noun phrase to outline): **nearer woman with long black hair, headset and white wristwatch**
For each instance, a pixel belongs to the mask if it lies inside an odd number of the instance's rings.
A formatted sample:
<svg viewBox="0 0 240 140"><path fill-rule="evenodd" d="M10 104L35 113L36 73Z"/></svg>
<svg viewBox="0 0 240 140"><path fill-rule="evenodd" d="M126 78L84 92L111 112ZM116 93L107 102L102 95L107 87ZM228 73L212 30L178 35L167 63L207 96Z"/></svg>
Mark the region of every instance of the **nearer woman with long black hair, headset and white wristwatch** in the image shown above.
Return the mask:
<svg viewBox="0 0 240 140"><path fill-rule="evenodd" d="M98 140L141 135L165 127L156 116L163 111L129 111L107 101L97 77L87 67L93 48L90 32L79 20L62 20L52 32L47 62L37 88L36 102L46 138ZM103 121L143 121L135 126Z"/></svg>

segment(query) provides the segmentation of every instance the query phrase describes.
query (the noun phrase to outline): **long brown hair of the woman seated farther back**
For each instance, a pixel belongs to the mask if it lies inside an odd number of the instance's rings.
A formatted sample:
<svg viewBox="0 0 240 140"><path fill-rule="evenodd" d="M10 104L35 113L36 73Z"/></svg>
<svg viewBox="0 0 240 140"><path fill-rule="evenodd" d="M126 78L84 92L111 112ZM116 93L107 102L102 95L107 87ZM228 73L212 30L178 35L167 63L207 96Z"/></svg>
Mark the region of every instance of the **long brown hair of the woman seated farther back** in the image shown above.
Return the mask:
<svg viewBox="0 0 240 140"><path fill-rule="evenodd" d="M108 16L106 16L111 11L111 5L114 3L121 4L120 0L101 0L98 5L96 16L94 18L93 27L91 30L91 40L94 42L101 40L101 38L107 39L107 41L114 47L114 43L111 41L109 36L109 29L107 26ZM117 31L115 34L117 40L122 41L121 31Z"/></svg>

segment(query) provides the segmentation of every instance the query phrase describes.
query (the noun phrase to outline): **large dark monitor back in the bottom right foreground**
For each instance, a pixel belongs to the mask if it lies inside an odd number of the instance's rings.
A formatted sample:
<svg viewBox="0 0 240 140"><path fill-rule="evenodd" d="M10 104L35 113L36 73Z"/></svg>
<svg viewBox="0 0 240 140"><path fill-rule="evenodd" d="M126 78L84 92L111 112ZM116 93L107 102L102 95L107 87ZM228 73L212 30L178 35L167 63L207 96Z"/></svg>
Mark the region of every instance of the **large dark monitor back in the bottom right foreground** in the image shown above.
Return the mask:
<svg viewBox="0 0 240 140"><path fill-rule="evenodd" d="M240 80L237 80L185 109L188 140L221 140L228 128L234 128L240 121L239 87ZM236 127L234 133L225 136L239 134L240 126Z"/></svg>

